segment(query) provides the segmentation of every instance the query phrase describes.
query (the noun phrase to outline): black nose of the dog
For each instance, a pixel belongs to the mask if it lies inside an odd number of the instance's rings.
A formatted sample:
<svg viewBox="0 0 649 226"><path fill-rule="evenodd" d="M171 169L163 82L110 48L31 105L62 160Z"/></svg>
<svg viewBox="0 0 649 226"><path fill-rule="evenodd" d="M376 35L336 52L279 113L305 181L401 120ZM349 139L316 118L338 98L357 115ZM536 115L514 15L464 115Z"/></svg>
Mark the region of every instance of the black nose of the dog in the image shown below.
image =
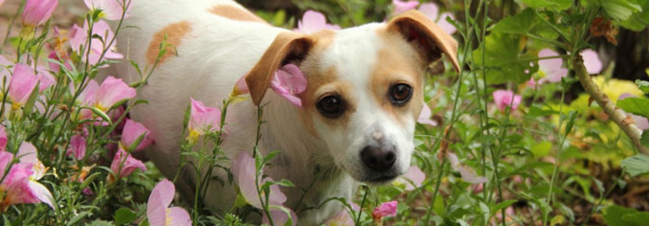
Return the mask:
<svg viewBox="0 0 649 226"><path fill-rule="evenodd" d="M394 146L365 146L361 151L361 159L368 168L375 171L386 171L397 161Z"/></svg>

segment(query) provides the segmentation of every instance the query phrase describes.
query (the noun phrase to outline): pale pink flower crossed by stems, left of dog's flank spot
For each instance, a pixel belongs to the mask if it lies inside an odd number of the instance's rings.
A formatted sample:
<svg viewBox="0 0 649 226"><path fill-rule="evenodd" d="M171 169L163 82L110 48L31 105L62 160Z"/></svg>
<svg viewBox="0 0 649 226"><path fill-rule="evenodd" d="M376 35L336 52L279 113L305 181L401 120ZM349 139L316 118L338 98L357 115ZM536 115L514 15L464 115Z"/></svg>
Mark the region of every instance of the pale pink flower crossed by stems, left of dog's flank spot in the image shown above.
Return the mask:
<svg viewBox="0 0 649 226"><path fill-rule="evenodd" d="M91 65L96 65L97 63L100 63L105 59L123 58L122 54L114 52L116 44L115 42L113 42L111 45L108 45L110 44L110 41L113 40L115 34L112 30L110 30L108 23L104 21L97 21L97 23L95 23L92 27L93 36L97 35L101 37L101 40L93 38L92 40L90 40L90 47L82 48L82 45L86 45L88 42L88 29L90 29L88 27L88 23L85 23L83 29L79 28L79 26L77 25L73 25L73 27L69 31L71 36L69 40L70 47L73 51L76 51L81 56L82 61L88 61L88 63L90 63ZM82 49L84 52L80 52ZM101 54L104 52L104 49L106 50L106 53L104 54L103 58L101 58ZM87 57L86 54L88 54ZM101 67L108 67L108 65L102 65Z"/></svg>

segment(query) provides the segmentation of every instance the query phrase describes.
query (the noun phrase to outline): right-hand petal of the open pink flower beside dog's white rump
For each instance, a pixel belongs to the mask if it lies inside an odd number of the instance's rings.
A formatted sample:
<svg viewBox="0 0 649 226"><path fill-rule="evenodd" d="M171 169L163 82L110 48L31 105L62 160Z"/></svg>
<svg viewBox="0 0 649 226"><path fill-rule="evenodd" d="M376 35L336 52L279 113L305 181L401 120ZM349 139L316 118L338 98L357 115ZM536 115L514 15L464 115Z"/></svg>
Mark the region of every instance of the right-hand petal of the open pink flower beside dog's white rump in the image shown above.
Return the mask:
<svg viewBox="0 0 649 226"><path fill-rule="evenodd" d="M114 104L135 97L136 90L121 79L108 76L99 86L95 105L102 111L108 111Z"/></svg>

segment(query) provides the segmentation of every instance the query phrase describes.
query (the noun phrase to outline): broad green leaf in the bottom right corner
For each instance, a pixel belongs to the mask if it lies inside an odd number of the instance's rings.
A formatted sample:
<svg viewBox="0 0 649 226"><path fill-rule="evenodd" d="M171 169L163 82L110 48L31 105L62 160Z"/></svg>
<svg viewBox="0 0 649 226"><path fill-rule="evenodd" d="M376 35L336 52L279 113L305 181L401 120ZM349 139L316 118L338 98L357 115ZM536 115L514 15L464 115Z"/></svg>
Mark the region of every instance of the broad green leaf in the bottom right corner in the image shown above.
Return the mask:
<svg viewBox="0 0 649 226"><path fill-rule="evenodd" d="M649 212L612 205L604 209L604 222L610 226L642 226L649 221Z"/></svg>

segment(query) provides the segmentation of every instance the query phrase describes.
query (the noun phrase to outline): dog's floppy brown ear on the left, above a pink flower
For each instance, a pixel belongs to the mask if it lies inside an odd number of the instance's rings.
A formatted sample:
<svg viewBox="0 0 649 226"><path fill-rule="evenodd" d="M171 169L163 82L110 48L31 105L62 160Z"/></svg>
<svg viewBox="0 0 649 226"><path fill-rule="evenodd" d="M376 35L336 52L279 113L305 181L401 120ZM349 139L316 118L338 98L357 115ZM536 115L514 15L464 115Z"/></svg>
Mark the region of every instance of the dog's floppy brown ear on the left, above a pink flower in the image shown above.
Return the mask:
<svg viewBox="0 0 649 226"><path fill-rule="evenodd" d="M259 105L275 76L275 71L287 63L304 60L313 40L295 32L282 32L266 49L262 58L245 76L252 102Z"/></svg>

